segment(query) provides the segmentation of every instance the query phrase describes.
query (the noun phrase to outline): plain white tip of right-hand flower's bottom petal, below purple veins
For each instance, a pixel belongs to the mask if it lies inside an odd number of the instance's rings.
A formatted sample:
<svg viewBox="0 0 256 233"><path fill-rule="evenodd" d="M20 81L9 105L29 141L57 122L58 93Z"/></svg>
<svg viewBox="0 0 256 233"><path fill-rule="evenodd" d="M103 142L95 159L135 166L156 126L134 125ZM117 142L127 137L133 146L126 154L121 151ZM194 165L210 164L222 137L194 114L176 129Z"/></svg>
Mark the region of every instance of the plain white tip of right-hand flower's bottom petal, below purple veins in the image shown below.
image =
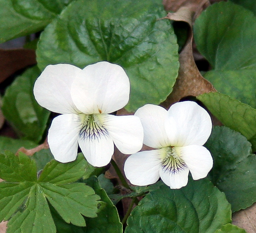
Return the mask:
<svg viewBox="0 0 256 233"><path fill-rule="evenodd" d="M180 189L187 185L189 180L189 169L179 170L177 173L171 173L170 171L160 169L161 180L168 185L171 189Z"/></svg>

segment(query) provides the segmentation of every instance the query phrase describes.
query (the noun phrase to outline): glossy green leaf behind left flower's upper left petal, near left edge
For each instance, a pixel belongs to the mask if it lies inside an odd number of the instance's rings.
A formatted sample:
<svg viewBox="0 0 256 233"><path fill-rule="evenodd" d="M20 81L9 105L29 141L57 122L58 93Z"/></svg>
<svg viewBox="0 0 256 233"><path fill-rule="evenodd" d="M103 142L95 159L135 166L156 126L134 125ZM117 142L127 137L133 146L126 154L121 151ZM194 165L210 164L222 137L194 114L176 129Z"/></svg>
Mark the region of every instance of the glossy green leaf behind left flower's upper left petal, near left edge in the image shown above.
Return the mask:
<svg viewBox="0 0 256 233"><path fill-rule="evenodd" d="M33 86L40 70L29 68L17 77L3 96L2 112L21 136L38 143L47 126L50 112L41 107L33 95Z"/></svg>

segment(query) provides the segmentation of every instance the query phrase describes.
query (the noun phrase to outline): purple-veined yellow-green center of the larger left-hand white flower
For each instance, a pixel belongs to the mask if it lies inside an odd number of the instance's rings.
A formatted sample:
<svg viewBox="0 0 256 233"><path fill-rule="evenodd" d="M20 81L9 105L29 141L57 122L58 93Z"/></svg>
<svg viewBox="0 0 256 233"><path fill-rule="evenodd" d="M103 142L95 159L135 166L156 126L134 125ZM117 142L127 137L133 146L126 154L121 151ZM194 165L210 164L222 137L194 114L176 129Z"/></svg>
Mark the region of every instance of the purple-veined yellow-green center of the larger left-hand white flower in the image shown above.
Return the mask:
<svg viewBox="0 0 256 233"><path fill-rule="evenodd" d="M107 130L102 124L102 119L99 117L100 114L82 115L83 127L80 130L80 136L84 138L98 139L101 136L108 135Z"/></svg>

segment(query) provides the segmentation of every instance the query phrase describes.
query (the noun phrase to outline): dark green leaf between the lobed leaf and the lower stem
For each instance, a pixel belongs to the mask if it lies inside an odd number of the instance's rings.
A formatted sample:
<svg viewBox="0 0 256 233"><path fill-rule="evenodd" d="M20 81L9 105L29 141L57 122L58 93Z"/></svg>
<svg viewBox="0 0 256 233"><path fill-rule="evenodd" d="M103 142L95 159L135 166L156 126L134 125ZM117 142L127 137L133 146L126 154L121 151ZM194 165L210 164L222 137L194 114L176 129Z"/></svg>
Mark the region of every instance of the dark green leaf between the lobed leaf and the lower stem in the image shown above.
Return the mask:
<svg viewBox="0 0 256 233"><path fill-rule="evenodd" d="M98 194L106 207L98 213L97 218L86 218L86 233L104 232L104 233L122 233L123 226L120 223L118 211L113 205L105 190L100 187L98 179L93 176L86 180L95 193Z"/></svg>

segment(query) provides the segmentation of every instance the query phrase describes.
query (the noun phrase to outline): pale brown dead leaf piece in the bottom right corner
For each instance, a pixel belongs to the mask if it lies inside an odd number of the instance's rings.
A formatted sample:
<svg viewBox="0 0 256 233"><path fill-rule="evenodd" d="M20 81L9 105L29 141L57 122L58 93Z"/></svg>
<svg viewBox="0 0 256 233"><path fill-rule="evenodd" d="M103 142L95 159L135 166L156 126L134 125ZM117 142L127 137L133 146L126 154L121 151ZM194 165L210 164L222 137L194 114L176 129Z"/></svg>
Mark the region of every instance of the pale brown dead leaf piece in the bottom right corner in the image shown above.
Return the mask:
<svg viewBox="0 0 256 233"><path fill-rule="evenodd" d="M256 233L256 203L245 210L232 215L232 224L239 226L247 233Z"/></svg>

